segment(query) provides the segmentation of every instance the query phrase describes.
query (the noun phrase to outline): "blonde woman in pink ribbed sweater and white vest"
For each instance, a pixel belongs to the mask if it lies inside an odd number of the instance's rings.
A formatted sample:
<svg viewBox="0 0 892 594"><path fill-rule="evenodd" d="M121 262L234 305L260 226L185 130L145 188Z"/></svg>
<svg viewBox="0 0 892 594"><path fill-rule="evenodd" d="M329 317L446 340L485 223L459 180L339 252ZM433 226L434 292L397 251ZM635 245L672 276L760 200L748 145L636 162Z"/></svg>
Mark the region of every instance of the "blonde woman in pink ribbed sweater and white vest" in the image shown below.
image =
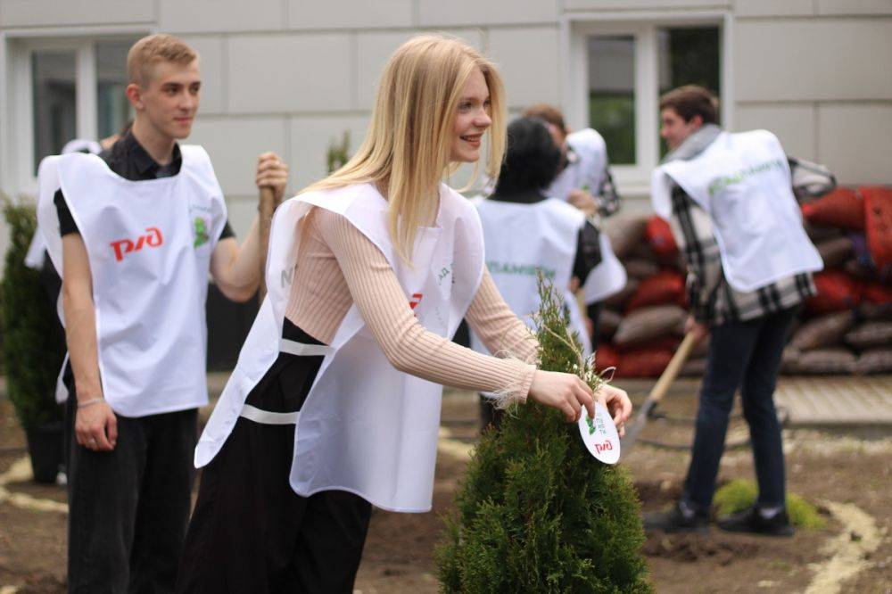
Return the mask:
<svg viewBox="0 0 892 594"><path fill-rule="evenodd" d="M431 507L442 384L628 418L624 392L524 362L537 345L483 265L475 209L442 184L488 130L498 172L504 109L475 49L414 37L356 156L277 210L268 297L195 451L179 591L351 592L371 506ZM466 315L513 357L450 342Z"/></svg>

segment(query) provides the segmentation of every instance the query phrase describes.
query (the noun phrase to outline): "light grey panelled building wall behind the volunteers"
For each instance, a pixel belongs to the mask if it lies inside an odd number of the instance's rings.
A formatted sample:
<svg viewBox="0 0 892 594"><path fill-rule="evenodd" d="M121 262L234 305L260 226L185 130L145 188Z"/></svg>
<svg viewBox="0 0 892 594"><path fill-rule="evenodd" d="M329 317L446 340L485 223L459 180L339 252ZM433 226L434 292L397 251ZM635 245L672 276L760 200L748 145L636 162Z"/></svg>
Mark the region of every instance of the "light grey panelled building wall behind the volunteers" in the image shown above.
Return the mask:
<svg viewBox="0 0 892 594"><path fill-rule="evenodd" d="M772 129L789 153L827 164L843 183L892 183L892 0L0 0L0 33L8 42L22 31L127 26L194 45L204 87L190 140L211 153L244 236L256 212L257 155L285 157L291 189L324 175L326 147L344 130L359 144L381 66L417 31L445 30L483 49L516 113L538 101L566 104L575 19L699 11L730 15L724 101L734 128ZM9 76L2 94L14 86ZM2 137L0 148L13 150L8 131Z"/></svg>

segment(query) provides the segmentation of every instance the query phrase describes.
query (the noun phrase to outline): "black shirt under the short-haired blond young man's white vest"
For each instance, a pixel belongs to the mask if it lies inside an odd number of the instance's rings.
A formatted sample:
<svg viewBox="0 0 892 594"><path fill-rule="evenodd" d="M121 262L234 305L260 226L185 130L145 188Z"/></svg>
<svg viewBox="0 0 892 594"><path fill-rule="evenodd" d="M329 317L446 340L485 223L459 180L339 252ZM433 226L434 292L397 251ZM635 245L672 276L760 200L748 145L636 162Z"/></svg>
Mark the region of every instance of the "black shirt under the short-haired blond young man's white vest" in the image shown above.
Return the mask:
<svg viewBox="0 0 892 594"><path fill-rule="evenodd" d="M110 148L99 153L99 157L105 161L109 169L130 181L172 177L177 175L179 169L183 166L183 154L179 150L179 144L173 145L173 158L170 162L167 165L159 165L145 151L143 145L139 144L132 132L128 132L118 142L112 144ZM70 233L79 235L78 225L71 216L71 210L69 210L68 204L62 196L62 190L55 193L53 202L55 203L56 212L59 214L60 235L69 235ZM229 221L223 227L223 232L220 233L219 238L226 239L227 237L235 237L232 227L229 226Z"/></svg>

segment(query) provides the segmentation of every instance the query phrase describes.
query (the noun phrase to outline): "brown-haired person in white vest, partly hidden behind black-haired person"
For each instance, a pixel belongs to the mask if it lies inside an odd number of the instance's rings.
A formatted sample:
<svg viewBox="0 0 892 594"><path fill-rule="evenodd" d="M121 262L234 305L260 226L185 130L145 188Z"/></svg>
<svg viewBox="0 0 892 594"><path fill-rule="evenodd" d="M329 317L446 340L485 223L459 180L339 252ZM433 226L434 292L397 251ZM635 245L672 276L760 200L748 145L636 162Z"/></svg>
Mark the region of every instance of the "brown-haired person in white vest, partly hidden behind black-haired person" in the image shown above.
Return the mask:
<svg viewBox="0 0 892 594"><path fill-rule="evenodd" d="M548 103L538 103L524 112L525 116L548 122L549 131L560 149L558 173L549 184L546 194L569 202L595 221L607 218L619 210L619 195L607 159L607 144L592 128L571 132L564 114ZM598 348L598 321L602 302L623 290L625 268L617 260L607 234L600 234L601 263L592 270L583 287L586 315L591 320L591 350Z"/></svg>

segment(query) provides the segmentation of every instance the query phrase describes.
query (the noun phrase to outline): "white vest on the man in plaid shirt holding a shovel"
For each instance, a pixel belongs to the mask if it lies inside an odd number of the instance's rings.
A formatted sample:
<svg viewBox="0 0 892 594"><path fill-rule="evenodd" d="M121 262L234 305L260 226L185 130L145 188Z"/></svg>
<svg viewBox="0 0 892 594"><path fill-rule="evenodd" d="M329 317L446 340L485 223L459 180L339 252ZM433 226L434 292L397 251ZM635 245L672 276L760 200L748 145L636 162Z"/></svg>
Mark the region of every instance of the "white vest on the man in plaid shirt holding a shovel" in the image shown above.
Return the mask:
<svg viewBox="0 0 892 594"><path fill-rule="evenodd" d="M771 132L723 132L693 159L658 167L651 200L664 219L672 215L673 180L712 219L724 276L736 290L823 268L802 227L787 155Z"/></svg>

